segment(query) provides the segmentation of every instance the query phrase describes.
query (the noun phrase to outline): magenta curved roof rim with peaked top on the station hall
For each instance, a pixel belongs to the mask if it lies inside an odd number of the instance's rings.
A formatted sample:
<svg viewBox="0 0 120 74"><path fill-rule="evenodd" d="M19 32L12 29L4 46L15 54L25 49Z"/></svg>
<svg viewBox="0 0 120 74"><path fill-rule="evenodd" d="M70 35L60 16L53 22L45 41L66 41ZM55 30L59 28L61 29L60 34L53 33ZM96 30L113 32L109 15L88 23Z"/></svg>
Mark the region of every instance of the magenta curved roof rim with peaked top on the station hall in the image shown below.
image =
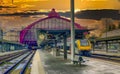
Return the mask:
<svg viewBox="0 0 120 74"><path fill-rule="evenodd" d="M20 32L20 43L23 43L24 37L25 37L26 33L28 32L28 29L31 29L33 26L35 26L35 25L36 25L37 23L39 23L39 22L42 22L42 21L47 20L47 19L52 19L52 18L61 19L61 20L64 20L64 21L66 21L66 22L71 22L71 20L61 17L61 16L55 11L55 9L52 9L52 11L48 14L47 17L45 17L45 18L43 18L43 19L40 19L40 20L38 20L38 21L33 22L32 24L28 25L26 28L24 28L24 29ZM70 25L68 25L68 26L70 26ZM75 23L75 29L83 30L83 29L85 29L85 28L82 27L82 26L80 26L80 24Z"/></svg>

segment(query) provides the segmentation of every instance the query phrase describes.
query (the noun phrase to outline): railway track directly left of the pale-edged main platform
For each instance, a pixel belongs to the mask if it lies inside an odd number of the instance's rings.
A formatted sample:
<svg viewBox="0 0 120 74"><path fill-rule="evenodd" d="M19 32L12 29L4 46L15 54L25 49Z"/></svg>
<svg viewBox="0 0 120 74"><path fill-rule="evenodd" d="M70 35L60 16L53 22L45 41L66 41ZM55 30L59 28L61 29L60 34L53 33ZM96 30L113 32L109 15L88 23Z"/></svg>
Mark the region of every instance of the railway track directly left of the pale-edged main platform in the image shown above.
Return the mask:
<svg viewBox="0 0 120 74"><path fill-rule="evenodd" d="M35 54L35 51L25 55L24 57L20 58L19 61L13 62L14 64L10 66L3 74L25 74L26 70L31 65L31 60ZM28 74L28 73L26 73Z"/></svg>

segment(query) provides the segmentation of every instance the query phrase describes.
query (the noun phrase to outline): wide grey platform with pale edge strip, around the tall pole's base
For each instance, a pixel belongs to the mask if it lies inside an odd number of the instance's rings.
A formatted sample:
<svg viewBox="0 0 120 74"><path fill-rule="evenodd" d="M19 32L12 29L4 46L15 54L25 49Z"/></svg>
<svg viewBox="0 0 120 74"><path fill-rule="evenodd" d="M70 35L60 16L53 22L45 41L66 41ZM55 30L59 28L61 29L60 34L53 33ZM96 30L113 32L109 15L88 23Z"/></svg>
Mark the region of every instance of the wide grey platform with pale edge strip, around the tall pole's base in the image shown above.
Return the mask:
<svg viewBox="0 0 120 74"><path fill-rule="evenodd" d="M100 59L87 58L81 65L73 65L63 55L53 56L48 51L37 50L33 59L31 74L119 74L120 64Z"/></svg>

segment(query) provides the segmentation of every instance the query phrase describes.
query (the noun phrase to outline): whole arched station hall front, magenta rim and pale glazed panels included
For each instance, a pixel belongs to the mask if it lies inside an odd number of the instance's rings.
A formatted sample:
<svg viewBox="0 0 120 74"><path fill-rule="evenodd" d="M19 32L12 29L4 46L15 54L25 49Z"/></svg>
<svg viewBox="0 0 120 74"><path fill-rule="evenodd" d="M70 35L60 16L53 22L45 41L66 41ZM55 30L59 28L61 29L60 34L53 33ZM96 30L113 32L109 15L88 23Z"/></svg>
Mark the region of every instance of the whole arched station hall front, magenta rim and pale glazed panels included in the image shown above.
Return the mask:
<svg viewBox="0 0 120 74"><path fill-rule="evenodd" d="M75 23L75 33L88 32L87 29ZM67 33L70 36L71 20L61 17L55 9L52 9L47 17L40 19L28 25L20 32L20 43L28 45L37 45L38 31L47 34L62 35Z"/></svg>

